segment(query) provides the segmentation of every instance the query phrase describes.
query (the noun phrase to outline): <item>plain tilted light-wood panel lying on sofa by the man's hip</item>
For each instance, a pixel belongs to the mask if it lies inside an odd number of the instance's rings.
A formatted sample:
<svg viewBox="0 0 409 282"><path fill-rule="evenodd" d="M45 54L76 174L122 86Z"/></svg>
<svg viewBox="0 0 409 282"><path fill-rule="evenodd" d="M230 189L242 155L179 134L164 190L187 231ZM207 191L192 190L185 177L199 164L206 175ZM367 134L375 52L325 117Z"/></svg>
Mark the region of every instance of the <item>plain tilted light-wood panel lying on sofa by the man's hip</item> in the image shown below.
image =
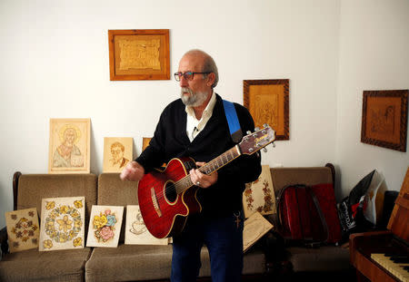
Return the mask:
<svg viewBox="0 0 409 282"><path fill-rule="evenodd" d="M245 252L248 248L252 247L254 243L259 238L262 238L270 229L273 229L273 224L267 219L264 219L259 212L255 212L250 218L245 219L243 229L243 251Z"/></svg>

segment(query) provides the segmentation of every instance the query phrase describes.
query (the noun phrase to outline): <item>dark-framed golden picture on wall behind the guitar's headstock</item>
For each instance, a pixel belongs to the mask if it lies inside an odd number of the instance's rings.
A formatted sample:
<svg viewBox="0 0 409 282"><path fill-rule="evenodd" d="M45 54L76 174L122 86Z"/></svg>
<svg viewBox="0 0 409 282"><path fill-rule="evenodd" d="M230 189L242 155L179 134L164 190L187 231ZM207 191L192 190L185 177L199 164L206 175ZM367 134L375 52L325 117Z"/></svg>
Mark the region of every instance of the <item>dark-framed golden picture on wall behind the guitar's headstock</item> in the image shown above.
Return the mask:
<svg viewBox="0 0 409 282"><path fill-rule="evenodd" d="M267 123L275 131L275 140L289 140L289 80L244 80L244 107L255 127Z"/></svg>

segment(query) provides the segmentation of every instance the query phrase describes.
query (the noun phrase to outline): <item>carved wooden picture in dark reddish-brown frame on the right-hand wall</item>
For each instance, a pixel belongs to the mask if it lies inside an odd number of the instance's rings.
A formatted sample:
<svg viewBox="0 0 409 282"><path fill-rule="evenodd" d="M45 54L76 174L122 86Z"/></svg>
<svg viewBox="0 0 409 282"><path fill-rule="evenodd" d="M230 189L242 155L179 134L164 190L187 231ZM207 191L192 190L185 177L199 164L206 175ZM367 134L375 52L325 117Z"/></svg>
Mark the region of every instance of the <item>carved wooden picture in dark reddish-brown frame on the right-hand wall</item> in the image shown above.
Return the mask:
<svg viewBox="0 0 409 282"><path fill-rule="evenodd" d="M361 141L406 151L408 90L364 91Z"/></svg>

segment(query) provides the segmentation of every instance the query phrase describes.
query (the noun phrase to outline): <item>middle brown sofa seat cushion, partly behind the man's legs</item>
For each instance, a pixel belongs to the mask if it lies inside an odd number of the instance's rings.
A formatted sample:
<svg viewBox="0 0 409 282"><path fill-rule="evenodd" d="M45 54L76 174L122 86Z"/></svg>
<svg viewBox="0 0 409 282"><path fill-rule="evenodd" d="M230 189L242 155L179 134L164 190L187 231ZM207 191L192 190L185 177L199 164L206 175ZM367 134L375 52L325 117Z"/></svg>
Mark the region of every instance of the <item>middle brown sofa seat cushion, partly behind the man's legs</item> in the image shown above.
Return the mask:
<svg viewBox="0 0 409 282"><path fill-rule="evenodd" d="M199 277L210 277L210 258L202 248ZM168 279L172 267L172 245L119 245L118 248L95 248L85 265L86 281L142 281ZM265 257L260 250L244 255L243 274L263 274Z"/></svg>

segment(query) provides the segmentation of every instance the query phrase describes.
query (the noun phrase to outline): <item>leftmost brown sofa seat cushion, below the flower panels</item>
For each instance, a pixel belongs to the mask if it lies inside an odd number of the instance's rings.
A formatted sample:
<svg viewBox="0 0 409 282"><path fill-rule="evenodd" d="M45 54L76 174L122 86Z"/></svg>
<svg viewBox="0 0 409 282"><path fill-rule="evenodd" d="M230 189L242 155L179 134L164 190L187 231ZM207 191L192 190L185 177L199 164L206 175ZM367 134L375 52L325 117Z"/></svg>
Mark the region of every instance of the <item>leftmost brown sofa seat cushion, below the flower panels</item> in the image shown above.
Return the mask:
<svg viewBox="0 0 409 282"><path fill-rule="evenodd" d="M84 281L91 248L7 254L0 263L0 281Z"/></svg>

